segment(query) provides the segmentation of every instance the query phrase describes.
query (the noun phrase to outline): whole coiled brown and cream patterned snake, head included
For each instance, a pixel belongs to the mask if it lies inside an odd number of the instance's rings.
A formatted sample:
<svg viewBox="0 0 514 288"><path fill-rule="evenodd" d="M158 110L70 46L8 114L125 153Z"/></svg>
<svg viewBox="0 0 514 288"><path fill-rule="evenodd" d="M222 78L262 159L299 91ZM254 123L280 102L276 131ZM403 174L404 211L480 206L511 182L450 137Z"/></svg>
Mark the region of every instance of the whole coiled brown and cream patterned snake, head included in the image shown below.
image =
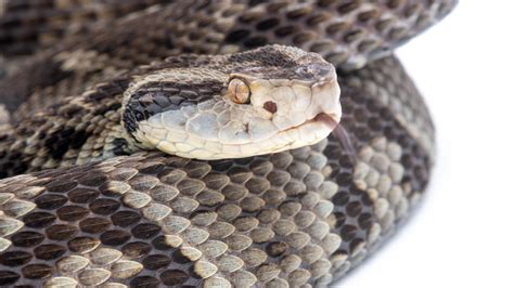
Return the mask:
<svg viewBox="0 0 514 288"><path fill-rule="evenodd" d="M393 51L455 3L2 1L0 286L335 285L424 195Z"/></svg>

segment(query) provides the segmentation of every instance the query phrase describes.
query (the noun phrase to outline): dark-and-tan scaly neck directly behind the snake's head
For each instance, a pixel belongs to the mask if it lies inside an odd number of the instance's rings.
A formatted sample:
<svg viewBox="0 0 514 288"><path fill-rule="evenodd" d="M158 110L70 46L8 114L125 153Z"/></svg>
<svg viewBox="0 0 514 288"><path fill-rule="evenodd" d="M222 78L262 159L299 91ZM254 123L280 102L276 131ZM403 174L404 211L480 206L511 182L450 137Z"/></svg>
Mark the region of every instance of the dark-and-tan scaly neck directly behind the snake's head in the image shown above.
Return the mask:
<svg viewBox="0 0 514 288"><path fill-rule="evenodd" d="M121 125L121 97L113 88L115 93L108 96L85 93L62 107L51 107L1 131L0 178L139 150Z"/></svg>

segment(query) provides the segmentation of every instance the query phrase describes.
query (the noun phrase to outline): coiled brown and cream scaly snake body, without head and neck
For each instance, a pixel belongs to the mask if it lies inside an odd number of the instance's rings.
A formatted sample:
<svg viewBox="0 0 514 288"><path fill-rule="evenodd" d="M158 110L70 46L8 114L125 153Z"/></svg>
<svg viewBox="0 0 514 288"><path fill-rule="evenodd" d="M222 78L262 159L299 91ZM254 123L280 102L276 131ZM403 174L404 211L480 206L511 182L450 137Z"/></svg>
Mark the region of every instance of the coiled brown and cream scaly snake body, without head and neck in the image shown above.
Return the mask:
<svg viewBox="0 0 514 288"><path fill-rule="evenodd" d="M0 82L0 99L21 123L154 60L295 44L338 68L357 161L331 136L236 160L149 152L0 180L0 286L324 287L409 215L431 173L434 127L401 64L377 58L454 1L235 2L153 6L108 32L91 28L87 41L69 36ZM69 133L56 136L40 141L70 145ZM27 169L11 148L0 152L3 176Z"/></svg>

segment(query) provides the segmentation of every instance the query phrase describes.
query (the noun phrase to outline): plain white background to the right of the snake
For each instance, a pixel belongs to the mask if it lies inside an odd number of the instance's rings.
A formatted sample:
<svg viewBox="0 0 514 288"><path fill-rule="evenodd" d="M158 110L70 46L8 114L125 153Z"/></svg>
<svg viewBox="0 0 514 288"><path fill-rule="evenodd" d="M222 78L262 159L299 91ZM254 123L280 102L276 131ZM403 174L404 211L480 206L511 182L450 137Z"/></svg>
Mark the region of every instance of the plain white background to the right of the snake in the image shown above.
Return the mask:
<svg viewBox="0 0 514 288"><path fill-rule="evenodd" d="M398 50L437 128L417 211L342 287L514 287L514 1L461 0Z"/></svg>

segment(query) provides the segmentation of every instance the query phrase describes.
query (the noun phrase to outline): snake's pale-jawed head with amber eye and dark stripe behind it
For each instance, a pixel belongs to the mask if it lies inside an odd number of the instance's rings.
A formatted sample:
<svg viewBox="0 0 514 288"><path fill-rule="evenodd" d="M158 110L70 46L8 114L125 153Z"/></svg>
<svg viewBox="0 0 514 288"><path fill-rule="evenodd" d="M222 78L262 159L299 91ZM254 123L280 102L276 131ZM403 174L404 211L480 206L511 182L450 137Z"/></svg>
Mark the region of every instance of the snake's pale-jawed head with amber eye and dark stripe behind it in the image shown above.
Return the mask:
<svg viewBox="0 0 514 288"><path fill-rule="evenodd" d="M125 93L139 147L197 159L278 153L321 141L342 116L335 68L316 53L268 45L168 63Z"/></svg>

